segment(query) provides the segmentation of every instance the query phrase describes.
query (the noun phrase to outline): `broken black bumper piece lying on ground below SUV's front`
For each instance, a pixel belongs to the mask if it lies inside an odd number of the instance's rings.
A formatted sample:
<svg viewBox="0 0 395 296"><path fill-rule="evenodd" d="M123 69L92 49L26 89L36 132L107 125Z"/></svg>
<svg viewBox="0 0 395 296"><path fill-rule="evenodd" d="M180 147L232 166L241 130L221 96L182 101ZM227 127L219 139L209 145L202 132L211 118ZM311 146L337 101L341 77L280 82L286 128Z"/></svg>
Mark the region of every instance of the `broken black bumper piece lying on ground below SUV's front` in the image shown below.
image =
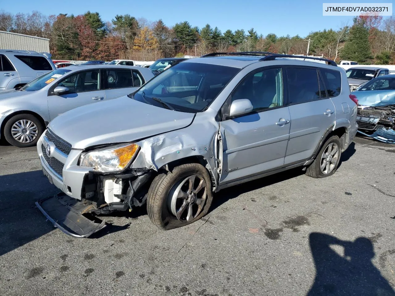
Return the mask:
<svg viewBox="0 0 395 296"><path fill-rule="evenodd" d="M84 204L64 193L39 200L36 206L55 227L70 236L87 238L105 227L105 221L87 214L91 204Z"/></svg>

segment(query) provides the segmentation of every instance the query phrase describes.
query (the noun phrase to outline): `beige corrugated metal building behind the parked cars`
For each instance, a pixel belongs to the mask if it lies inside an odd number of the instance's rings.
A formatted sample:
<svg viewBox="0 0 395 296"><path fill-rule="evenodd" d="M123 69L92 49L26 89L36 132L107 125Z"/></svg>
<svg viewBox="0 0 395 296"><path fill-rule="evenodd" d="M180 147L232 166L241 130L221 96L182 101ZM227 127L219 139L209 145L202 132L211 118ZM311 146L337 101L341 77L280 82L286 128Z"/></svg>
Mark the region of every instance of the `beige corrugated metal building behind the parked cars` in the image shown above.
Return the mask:
<svg viewBox="0 0 395 296"><path fill-rule="evenodd" d="M0 31L0 49L49 52L49 39Z"/></svg>

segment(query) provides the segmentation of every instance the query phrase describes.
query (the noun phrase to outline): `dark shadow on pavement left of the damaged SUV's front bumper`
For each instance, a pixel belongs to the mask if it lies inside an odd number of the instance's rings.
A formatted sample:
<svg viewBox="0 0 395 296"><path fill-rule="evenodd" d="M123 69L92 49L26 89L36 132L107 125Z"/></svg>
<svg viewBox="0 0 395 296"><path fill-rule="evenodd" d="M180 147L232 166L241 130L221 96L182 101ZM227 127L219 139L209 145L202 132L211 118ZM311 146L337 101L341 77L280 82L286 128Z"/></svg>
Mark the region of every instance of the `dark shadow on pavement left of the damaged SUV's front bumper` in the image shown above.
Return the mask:
<svg viewBox="0 0 395 296"><path fill-rule="evenodd" d="M34 202L57 192L41 170L0 176L0 256L54 229Z"/></svg>

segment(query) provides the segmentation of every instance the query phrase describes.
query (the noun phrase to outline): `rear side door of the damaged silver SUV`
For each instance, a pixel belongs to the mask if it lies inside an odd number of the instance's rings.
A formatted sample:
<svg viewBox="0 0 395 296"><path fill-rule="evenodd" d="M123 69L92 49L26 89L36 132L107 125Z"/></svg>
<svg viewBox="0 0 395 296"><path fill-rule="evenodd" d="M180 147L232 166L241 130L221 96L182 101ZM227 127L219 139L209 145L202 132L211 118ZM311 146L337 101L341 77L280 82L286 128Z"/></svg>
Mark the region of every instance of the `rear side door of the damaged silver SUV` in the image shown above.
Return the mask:
<svg viewBox="0 0 395 296"><path fill-rule="evenodd" d="M310 158L321 137L335 122L335 106L315 67L287 67L291 116L285 165Z"/></svg>

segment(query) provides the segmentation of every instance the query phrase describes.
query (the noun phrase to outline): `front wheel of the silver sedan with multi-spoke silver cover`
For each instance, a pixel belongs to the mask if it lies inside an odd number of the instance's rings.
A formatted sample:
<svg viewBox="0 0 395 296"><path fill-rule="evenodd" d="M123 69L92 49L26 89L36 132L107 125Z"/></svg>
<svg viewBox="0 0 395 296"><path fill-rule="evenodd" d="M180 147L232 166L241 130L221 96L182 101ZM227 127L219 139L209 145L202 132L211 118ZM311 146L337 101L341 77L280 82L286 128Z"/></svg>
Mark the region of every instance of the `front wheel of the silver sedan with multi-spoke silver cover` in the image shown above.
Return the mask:
<svg viewBox="0 0 395 296"><path fill-rule="evenodd" d="M24 148L36 145L44 128L32 114L18 114L11 117L4 126L4 137L9 144Z"/></svg>

